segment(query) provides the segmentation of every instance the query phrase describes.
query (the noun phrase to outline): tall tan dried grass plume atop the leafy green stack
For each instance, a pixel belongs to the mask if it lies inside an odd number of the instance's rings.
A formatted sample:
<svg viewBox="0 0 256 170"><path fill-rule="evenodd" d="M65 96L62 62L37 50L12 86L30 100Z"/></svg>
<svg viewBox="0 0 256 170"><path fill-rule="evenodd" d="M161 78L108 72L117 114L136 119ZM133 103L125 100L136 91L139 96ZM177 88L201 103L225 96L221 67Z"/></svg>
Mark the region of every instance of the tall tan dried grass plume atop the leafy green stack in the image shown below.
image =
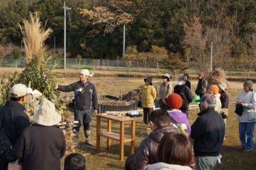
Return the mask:
<svg viewBox="0 0 256 170"><path fill-rule="evenodd" d="M30 21L23 20L24 26L19 24L23 36L23 42L26 53L26 64L28 65L32 59L36 59L42 63L44 42L46 38L52 33L51 28L45 29L41 26L39 16L30 14Z"/></svg>

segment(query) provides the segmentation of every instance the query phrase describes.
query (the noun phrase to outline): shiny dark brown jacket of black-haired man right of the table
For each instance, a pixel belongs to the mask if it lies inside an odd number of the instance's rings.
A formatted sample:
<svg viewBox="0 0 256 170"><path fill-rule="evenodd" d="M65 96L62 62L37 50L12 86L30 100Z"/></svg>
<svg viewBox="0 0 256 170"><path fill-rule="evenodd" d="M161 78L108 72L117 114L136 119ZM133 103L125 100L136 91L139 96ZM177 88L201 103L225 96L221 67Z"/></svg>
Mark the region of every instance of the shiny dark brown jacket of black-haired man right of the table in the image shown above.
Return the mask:
<svg viewBox="0 0 256 170"><path fill-rule="evenodd" d="M138 152L128 156L126 169L144 169L148 164L158 162L157 150L163 135L168 132L176 132L173 125L158 127L140 143Z"/></svg>

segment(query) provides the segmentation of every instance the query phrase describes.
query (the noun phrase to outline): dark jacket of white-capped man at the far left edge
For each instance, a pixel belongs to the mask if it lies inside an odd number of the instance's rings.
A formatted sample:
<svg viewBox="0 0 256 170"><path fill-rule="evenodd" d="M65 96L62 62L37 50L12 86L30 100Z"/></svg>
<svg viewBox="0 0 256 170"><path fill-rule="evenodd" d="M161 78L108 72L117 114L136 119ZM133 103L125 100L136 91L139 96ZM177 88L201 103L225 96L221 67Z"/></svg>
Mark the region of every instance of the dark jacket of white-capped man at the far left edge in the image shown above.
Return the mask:
<svg viewBox="0 0 256 170"><path fill-rule="evenodd" d="M1 127L14 145L24 129L30 125L29 117L24 111L24 105L14 101L7 101L0 110Z"/></svg>

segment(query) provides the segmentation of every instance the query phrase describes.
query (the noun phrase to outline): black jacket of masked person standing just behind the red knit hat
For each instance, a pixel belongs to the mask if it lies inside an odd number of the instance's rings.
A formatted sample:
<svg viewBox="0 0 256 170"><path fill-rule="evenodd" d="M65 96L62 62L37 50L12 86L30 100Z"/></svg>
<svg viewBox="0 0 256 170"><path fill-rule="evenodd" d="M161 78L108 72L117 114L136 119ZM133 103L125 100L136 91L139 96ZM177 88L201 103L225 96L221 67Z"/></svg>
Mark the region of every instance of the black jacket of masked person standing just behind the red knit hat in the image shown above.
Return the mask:
<svg viewBox="0 0 256 170"><path fill-rule="evenodd" d="M183 105L180 107L181 111L188 110L188 105L193 100L193 94L187 85L175 85L173 92L179 94L183 98Z"/></svg>

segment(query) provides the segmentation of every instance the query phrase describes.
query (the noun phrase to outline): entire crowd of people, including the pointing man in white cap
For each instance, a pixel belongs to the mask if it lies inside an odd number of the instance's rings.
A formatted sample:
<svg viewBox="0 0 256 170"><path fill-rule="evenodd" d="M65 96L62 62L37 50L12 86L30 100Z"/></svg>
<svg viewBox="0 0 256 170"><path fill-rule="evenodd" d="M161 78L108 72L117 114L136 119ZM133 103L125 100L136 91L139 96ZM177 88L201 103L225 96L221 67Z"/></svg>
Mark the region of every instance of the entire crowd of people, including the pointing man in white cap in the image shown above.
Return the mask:
<svg viewBox="0 0 256 170"><path fill-rule="evenodd" d="M80 80L71 85L56 85L56 90L74 92L74 119L78 120L75 139L83 124L85 144L91 147L91 115L98 113L96 87L89 81L92 74L87 69L80 72ZM125 169L214 169L220 162L220 152L225 139L229 97L227 85L222 82L208 85L205 74L198 75L195 94L200 96L200 112L190 126L189 103L193 101L189 75L178 78L174 87L170 75L163 75L158 89L153 78L145 78L142 88L143 122L151 132L140 143L135 154L126 159ZM66 152L66 141L61 122L53 102L41 100L34 115L34 123L24 114L29 102L29 88L23 84L11 87L10 100L0 110L0 170L61 169L61 158ZM155 110L158 98L160 109ZM242 150L253 149L256 121L256 93L251 80L245 81L243 90L235 98L237 120ZM241 109L242 108L242 109ZM238 110L238 111L237 111ZM81 154L69 154L64 170L86 169L86 159Z"/></svg>

